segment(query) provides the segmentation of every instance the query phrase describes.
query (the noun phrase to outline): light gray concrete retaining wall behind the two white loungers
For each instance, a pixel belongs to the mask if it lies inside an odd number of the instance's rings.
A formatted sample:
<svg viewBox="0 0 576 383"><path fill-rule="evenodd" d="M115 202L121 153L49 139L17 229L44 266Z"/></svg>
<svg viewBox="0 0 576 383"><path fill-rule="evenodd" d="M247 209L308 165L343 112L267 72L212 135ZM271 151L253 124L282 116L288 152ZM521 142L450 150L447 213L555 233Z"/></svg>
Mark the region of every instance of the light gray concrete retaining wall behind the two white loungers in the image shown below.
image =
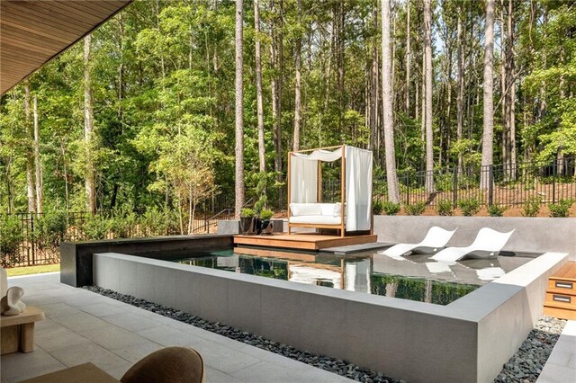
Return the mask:
<svg viewBox="0 0 576 383"><path fill-rule="evenodd" d="M458 227L450 246L472 244L482 227L515 229L504 250L568 253L576 261L576 218L374 216L374 234L380 242L418 243L433 226Z"/></svg>

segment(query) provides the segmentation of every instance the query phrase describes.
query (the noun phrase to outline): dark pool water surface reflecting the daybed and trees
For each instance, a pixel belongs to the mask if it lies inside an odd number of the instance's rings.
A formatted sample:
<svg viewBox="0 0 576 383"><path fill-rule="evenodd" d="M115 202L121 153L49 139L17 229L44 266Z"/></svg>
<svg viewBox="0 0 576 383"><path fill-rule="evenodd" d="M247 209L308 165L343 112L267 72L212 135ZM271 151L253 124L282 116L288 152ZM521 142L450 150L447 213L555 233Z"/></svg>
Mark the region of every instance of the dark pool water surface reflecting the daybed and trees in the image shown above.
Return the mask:
<svg viewBox="0 0 576 383"><path fill-rule="evenodd" d="M428 258L412 255L392 259L378 253L337 256L278 252L254 256L228 249L193 254L174 262L437 305L454 302L507 272L499 259L446 264ZM503 262L508 271L531 259L514 258L513 263Z"/></svg>

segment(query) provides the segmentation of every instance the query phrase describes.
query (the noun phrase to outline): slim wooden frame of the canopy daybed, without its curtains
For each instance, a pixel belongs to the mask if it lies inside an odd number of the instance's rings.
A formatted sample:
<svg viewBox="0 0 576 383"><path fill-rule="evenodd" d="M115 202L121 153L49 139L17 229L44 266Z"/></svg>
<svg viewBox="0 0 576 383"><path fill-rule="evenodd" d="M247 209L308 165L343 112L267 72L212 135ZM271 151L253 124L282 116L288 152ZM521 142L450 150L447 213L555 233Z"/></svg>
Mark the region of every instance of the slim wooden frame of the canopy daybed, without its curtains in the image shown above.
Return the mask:
<svg viewBox="0 0 576 383"><path fill-rule="evenodd" d="M299 224L299 223L291 223L290 222L290 201L292 199L291 190L292 190L292 156L297 153L310 153L316 150L332 150L335 151L336 149L340 148L342 155L340 160L342 161L342 169L340 172L340 203L341 203L341 210L340 210L340 223L339 224ZM345 236L346 233L346 145L338 145L336 147L317 147L314 149L306 149L306 150L298 150L288 152L288 234L292 233L292 227L311 227L311 228L332 228L340 230L340 236ZM322 201L322 161L318 160L318 196L317 200L318 203ZM371 229L372 231L372 229Z"/></svg>

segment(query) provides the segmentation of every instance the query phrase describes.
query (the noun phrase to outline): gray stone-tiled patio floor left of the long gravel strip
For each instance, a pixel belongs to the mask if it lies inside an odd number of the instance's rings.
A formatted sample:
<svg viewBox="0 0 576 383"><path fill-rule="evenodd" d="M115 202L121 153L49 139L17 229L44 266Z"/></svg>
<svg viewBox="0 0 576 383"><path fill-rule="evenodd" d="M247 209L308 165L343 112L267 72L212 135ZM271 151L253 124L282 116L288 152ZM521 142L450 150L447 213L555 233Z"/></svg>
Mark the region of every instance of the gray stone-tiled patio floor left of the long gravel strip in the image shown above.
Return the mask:
<svg viewBox="0 0 576 383"><path fill-rule="evenodd" d="M2 383L87 361L120 379L133 363L170 345L200 352L207 382L351 381L59 280L59 272L8 280L9 286L24 289L26 304L45 311L46 320L36 324L34 352L2 356Z"/></svg>

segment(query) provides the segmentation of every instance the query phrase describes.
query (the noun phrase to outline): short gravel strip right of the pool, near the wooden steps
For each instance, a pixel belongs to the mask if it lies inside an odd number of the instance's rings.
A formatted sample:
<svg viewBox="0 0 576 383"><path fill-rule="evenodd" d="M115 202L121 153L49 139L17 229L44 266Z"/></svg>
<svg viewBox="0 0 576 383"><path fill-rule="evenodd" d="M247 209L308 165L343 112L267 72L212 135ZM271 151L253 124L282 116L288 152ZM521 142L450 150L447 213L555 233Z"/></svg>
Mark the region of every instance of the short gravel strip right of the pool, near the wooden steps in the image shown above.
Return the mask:
<svg viewBox="0 0 576 383"><path fill-rule="evenodd" d="M562 319L549 316L540 318L536 328L528 334L518 352L504 364L494 382L536 382L554 349L554 344L562 334L564 325L566 321Z"/></svg>

